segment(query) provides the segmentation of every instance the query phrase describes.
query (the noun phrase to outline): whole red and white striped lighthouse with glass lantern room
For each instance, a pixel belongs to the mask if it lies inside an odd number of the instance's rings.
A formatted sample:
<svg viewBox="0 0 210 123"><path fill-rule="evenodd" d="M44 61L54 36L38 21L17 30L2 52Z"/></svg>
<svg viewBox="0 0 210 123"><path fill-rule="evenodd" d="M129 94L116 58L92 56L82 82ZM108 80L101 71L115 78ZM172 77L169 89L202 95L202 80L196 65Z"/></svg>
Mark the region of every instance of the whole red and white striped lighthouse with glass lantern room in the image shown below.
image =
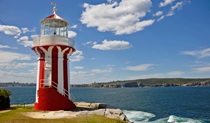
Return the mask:
<svg viewBox="0 0 210 123"><path fill-rule="evenodd" d="M70 97L68 56L74 41L68 38L69 23L54 13L41 23L41 35L33 39L32 50L38 56L35 110L69 110L76 108Z"/></svg>

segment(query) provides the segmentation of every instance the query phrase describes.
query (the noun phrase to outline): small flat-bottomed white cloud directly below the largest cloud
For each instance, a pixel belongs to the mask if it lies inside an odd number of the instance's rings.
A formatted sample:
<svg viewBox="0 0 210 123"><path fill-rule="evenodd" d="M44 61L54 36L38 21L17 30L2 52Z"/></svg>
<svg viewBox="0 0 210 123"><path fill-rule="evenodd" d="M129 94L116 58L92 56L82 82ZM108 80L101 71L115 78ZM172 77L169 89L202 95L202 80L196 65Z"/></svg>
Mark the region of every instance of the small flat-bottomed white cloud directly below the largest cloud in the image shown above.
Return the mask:
<svg viewBox="0 0 210 123"><path fill-rule="evenodd" d="M132 45L127 41L102 41L102 44L94 44L92 48L99 50L124 50L132 47Z"/></svg>

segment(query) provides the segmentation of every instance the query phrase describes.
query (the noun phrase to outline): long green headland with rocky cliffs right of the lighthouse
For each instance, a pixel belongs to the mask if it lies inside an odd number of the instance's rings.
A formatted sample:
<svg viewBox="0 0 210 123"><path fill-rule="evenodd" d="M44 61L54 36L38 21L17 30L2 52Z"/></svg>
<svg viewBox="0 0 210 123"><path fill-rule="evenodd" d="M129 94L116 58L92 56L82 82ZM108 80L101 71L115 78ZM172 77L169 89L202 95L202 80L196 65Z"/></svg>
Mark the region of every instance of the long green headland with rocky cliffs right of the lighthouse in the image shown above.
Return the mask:
<svg viewBox="0 0 210 123"><path fill-rule="evenodd" d="M151 78L113 81L106 83L75 84L72 87L96 87L96 88L124 88L124 87L170 87L170 86L210 86L210 78L186 79L186 78Z"/></svg>

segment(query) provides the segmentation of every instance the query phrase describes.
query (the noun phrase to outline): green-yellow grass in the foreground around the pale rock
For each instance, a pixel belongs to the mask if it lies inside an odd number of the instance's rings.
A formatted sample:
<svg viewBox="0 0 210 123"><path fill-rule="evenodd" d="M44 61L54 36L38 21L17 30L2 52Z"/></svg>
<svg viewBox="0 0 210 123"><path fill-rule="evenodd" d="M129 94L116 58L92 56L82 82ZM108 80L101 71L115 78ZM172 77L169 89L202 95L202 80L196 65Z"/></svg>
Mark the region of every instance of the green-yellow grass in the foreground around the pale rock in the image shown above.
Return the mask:
<svg viewBox="0 0 210 123"><path fill-rule="evenodd" d="M125 121L109 119L99 115L83 115L77 118L33 119L22 115L23 112L34 112L32 106L15 106L11 111L0 113L0 123L126 123Z"/></svg>

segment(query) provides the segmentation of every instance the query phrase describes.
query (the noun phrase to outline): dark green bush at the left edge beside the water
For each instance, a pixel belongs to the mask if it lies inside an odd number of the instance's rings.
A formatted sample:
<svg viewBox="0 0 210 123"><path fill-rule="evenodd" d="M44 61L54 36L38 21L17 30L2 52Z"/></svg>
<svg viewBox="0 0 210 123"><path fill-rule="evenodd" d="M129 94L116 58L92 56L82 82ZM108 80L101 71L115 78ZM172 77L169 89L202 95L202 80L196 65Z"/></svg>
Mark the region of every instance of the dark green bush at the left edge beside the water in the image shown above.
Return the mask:
<svg viewBox="0 0 210 123"><path fill-rule="evenodd" d="M0 110L10 108L11 92L5 89L0 89Z"/></svg>

